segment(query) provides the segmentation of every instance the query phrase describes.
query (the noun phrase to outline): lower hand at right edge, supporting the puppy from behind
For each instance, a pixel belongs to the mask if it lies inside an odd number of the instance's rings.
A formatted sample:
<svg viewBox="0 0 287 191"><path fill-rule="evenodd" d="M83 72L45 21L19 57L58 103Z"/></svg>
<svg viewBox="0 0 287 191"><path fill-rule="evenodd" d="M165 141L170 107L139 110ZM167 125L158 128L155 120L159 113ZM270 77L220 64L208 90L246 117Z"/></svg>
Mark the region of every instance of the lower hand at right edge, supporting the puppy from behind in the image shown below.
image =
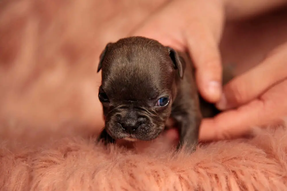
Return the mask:
<svg viewBox="0 0 287 191"><path fill-rule="evenodd" d="M217 103L224 110L204 119L200 140L230 139L249 133L252 127L271 125L287 116L287 43L267 55L253 69L223 88Z"/></svg>

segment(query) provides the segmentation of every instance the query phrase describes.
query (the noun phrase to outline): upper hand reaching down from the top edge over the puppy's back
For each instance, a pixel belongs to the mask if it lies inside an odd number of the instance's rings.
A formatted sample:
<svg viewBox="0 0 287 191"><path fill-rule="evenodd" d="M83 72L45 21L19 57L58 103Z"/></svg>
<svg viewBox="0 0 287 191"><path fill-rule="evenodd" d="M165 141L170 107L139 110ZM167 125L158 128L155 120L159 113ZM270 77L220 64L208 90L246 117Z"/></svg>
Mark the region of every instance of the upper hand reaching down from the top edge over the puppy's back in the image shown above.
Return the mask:
<svg viewBox="0 0 287 191"><path fill-rule="evenodd" d="M150 16L131 36L145 36L191 54L199 92L215 103L222 92L222 66L218 42L223 5L216 1L171 1Z"/></svg>

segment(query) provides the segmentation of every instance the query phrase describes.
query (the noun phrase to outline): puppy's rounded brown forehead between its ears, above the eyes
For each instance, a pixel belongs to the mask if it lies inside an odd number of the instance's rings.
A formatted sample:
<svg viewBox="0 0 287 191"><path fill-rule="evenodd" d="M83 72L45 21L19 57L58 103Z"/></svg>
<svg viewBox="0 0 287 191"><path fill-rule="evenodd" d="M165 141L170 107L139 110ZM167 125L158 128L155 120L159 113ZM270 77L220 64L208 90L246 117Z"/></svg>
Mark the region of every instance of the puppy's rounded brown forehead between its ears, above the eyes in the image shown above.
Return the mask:
<svg viewBox="0 0 287 191"><path fill-rule="evenodd" d="M103 89L113 100L150 102L172 84L168 50L146 38L113 43L102 71Z"/></svg>

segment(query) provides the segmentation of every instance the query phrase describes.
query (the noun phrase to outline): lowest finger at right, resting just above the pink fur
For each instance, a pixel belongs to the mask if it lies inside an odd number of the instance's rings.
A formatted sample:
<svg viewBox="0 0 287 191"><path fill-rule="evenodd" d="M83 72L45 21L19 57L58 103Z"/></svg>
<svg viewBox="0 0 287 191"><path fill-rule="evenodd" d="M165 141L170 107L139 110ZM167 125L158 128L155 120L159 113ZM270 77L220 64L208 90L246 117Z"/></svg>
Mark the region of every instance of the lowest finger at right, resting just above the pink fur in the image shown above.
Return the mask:
<svg viewBox="0 0 287 191"><path fill-rule="evenodd" d="M249 133L253 127L281 121L287 115L287 79L272 87L259 99L238 109L204 119L199 139L203 141L232 139Z"/></svg>

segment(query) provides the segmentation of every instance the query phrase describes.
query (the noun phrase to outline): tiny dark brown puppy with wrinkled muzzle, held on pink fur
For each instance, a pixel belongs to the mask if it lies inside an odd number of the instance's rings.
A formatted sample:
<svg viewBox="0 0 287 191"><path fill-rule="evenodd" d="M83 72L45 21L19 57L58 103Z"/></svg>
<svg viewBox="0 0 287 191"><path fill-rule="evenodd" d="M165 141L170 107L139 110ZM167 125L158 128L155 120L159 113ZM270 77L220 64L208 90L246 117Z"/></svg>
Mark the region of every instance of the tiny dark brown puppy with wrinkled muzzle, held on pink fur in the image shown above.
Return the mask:
<svg viewBox="0 0 287 191"><path fill-rule="evenodd" d="M155 139L172 118L179 127L177 149L195 150L201 119L219 111L202 99L187 54L156 40L129 37L108 43L100 55L99 99L105 127L99 141Z"/></svg>

